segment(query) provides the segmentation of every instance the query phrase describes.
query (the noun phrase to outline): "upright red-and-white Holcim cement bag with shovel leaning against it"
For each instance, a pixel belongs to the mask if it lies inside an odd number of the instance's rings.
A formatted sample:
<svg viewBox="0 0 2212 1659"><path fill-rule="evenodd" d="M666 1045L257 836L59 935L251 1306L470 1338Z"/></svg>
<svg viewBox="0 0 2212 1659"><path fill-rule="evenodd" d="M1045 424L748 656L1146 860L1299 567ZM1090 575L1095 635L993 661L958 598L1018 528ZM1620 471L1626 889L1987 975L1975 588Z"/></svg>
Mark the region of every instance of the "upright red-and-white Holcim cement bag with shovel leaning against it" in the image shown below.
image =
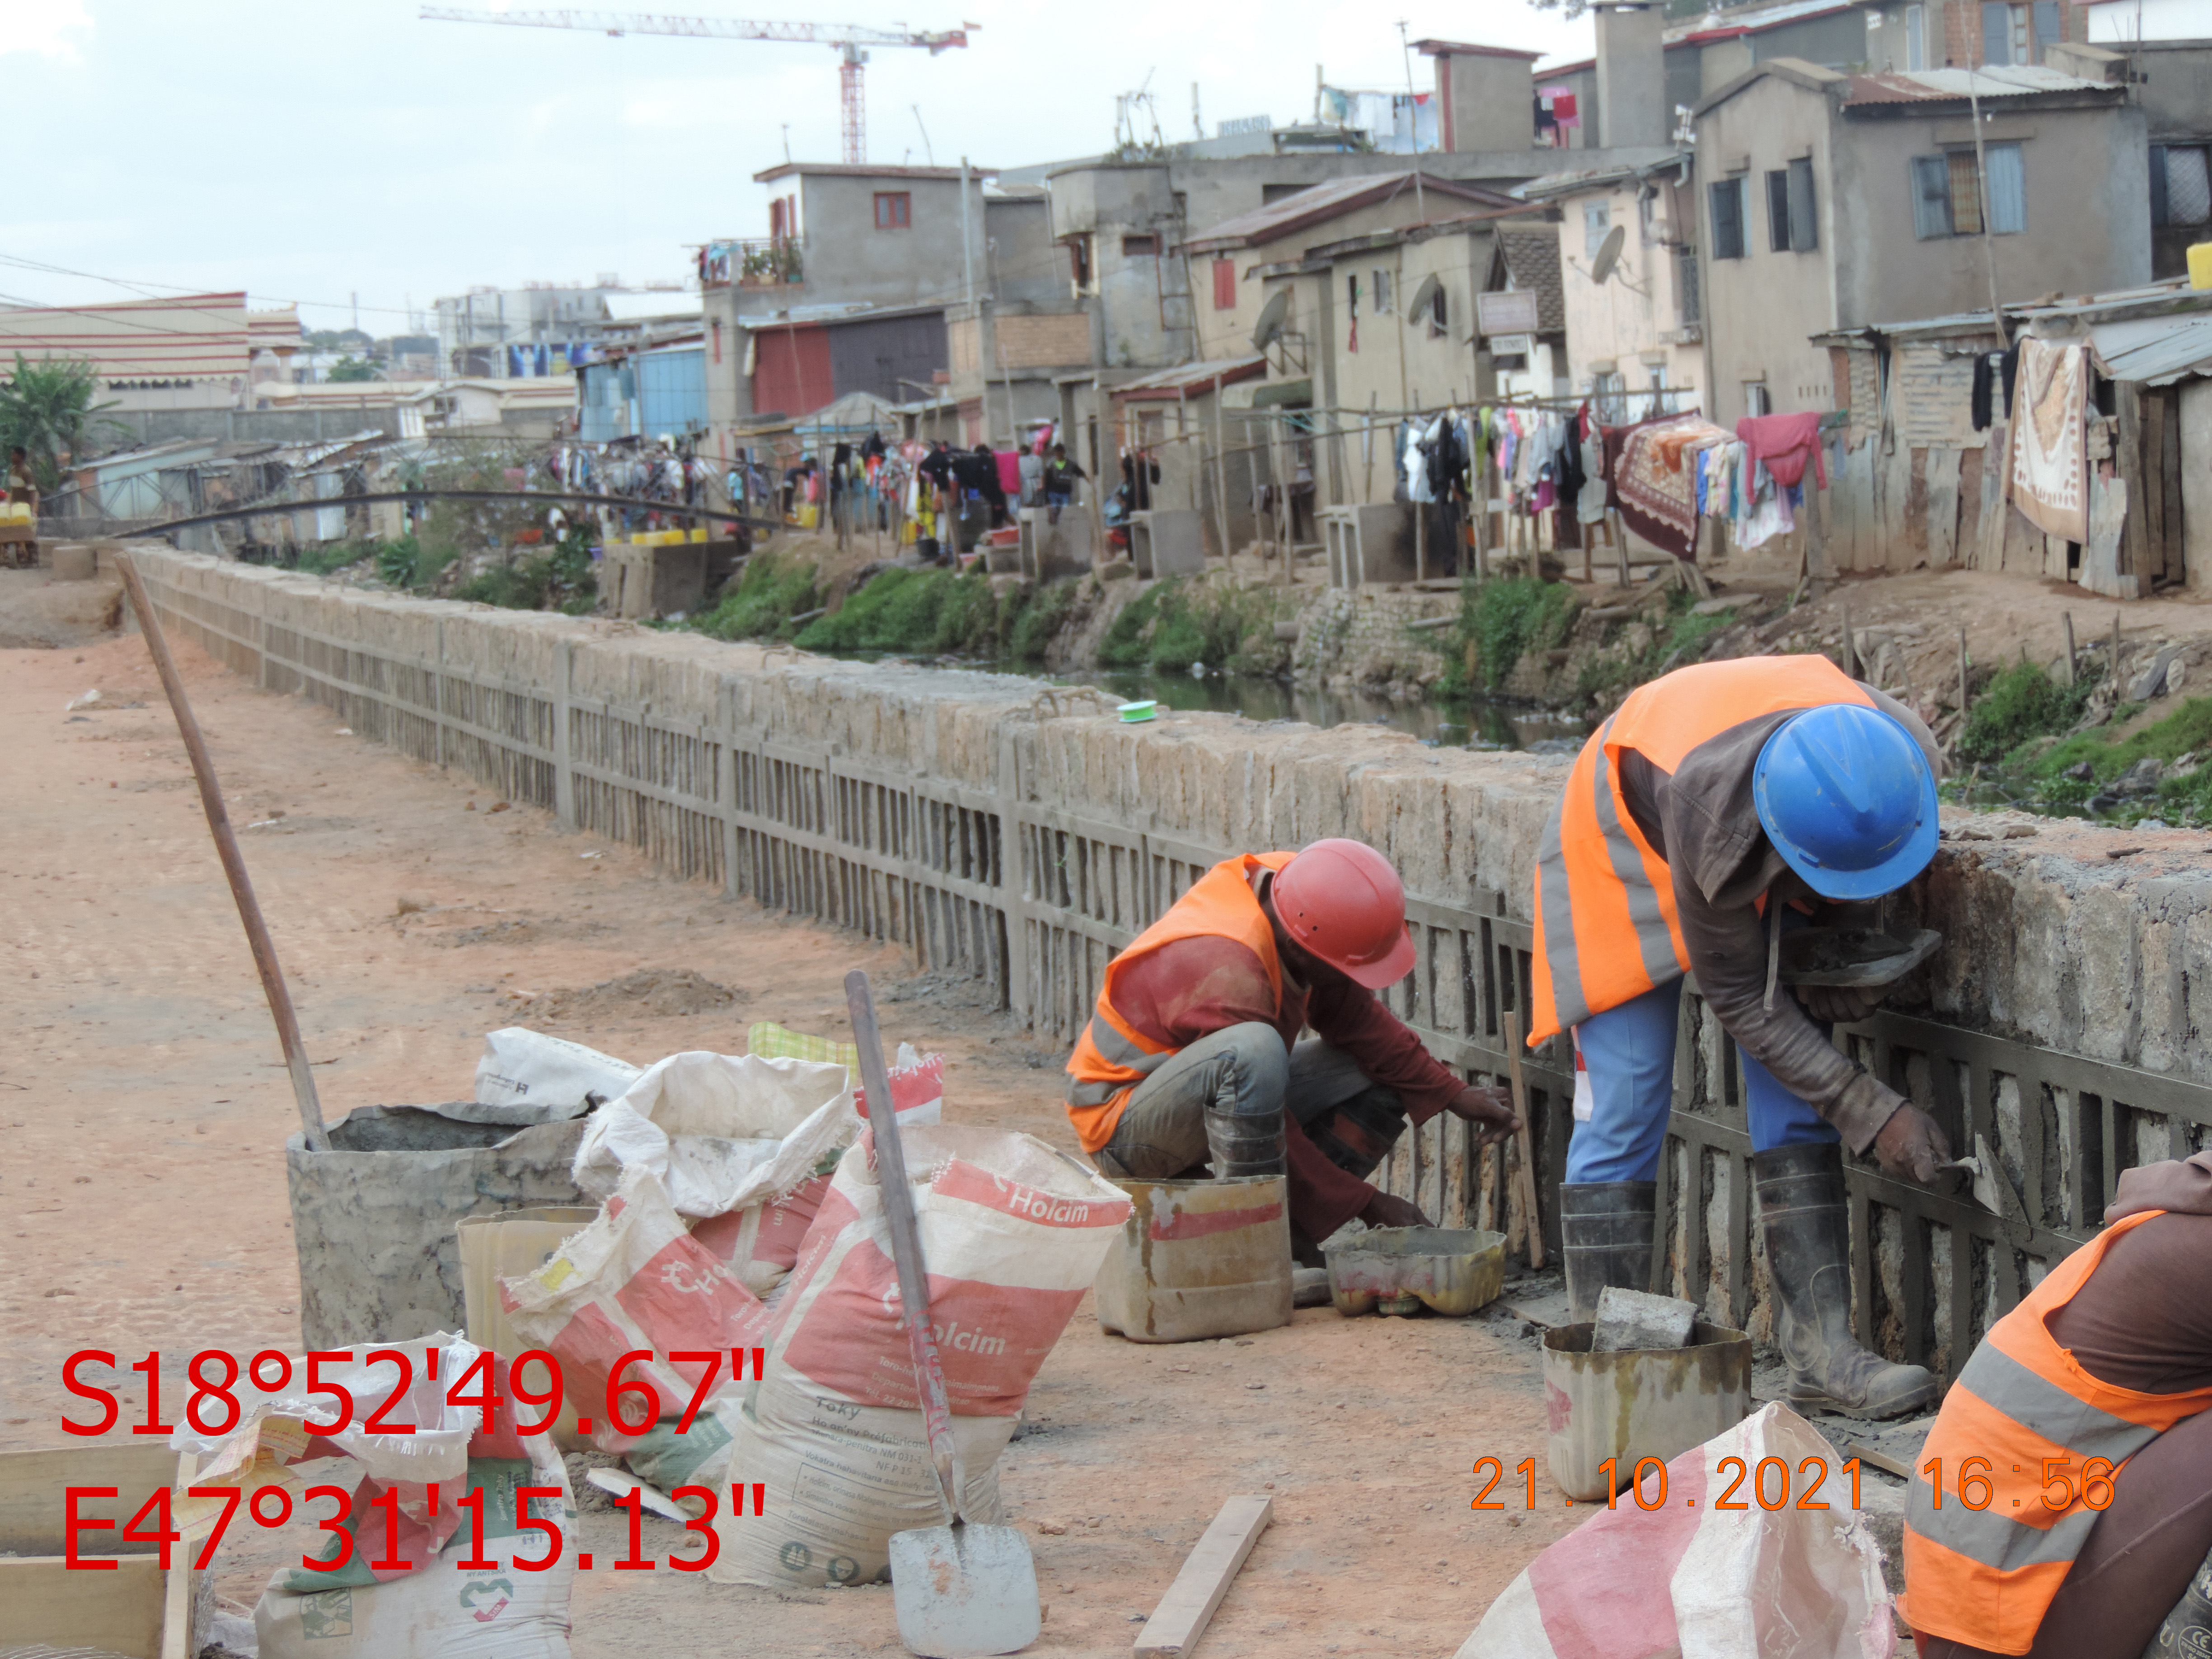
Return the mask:
<svg viewBox="0 0 2212 1659"><path fill-rule="evenodd" d="M1128 1199L1029 1135L914 1128L907 1172L953 1407L962 1513L998 1520L998 1453ZM730 1460L768 1515L717 1522L723 1584L854 1584L942 1522L869 1137L845 1155L774 1312Z"/></svg>

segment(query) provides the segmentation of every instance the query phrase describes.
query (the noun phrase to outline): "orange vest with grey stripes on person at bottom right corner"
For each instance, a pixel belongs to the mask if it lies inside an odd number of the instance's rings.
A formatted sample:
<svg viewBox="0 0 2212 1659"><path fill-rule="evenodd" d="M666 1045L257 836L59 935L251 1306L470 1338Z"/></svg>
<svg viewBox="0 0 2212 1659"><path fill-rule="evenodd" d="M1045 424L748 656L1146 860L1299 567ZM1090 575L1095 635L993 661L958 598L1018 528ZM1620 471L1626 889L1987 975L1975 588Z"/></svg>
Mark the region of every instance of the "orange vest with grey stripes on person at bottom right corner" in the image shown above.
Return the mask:
<svg viewBox="0 0 2212 1659"><path fill-rule="evenodd" d="M2097 1524L2099 1511L2084 1500L2084 1464L2104 1458L2117 1467L2212 1407L2212 1387L2137 1394L2099 1383L2051 1336L2048 1318L2097 1272L2112 1241L2157 1214L2166 1212L2115 1221L2053 1267L1991 1327L1944 1396L1905 1504L1905 1617L1913 1630L2026 1652ZM1931 1458L1942 1458L1940 1506L1927 1478ZM2046 1506L2062 1495L2053 1475L2073 1489L2062 1509ZM1980 1500L1984 1480L1989 1502L1964 1504L1960 1486ZM2110 1486L2095 1491L2110 1502Z"/></svg>

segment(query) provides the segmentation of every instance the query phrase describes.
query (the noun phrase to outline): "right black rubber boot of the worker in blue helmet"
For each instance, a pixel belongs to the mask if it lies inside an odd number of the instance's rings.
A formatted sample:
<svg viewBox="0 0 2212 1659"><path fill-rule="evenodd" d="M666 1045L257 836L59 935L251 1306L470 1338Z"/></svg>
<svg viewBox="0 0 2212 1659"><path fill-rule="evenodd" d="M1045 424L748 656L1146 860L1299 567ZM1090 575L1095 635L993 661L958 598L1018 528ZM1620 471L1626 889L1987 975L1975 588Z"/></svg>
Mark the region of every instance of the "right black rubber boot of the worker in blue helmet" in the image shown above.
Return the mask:
<svg viewBox="0 0 2212 1659"><path fill-rule="evenodd" d="M1754 1152L1752 1177L1774 1281L1774 1343L1790 1360L1790 1405L1847 1418L1902 1418L1933 1405L1933 1376L1918 1365L1891 1365L1851 1336L1843 1146Z"/></svg>

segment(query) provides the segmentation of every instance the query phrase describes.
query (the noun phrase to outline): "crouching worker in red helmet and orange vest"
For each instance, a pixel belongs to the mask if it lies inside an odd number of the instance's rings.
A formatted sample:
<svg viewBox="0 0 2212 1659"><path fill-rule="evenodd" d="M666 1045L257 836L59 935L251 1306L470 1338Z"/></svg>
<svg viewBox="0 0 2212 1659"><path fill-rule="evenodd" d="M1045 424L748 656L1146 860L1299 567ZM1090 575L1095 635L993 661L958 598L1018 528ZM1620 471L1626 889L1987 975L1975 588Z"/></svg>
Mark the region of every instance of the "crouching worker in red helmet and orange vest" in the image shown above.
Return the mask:
<svg viewBox="0 0 2212 1659"><path fill-rule="evenodd" d="M1411 969L1405 885L1374 847L1228 858L1106 967L1068 1119L1117 1179L1287 1175L1301 1254L1354 1217L1427 1225L1363 1179L1407 1121L1449 1110L1489 1146L1520 1119L1374 995Z"/></svg>

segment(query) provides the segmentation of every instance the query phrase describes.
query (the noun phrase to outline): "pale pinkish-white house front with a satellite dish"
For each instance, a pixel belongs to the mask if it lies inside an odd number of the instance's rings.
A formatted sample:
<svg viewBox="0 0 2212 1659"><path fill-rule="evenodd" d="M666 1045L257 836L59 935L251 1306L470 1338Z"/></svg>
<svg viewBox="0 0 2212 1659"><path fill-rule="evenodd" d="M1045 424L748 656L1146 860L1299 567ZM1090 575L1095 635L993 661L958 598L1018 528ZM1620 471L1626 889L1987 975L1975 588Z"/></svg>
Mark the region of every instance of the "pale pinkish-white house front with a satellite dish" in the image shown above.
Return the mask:
<svg viewBox="0 0 2212 1659"><path fill-rule="evenodd" d="M1562 374L1573 392L1593 396L1606 425L1701 407L1705 321L1690 153L1650 166L1555 173L1515 195L1559 212ZM1619 257L1597 281L1615 230Z"/></svg>

